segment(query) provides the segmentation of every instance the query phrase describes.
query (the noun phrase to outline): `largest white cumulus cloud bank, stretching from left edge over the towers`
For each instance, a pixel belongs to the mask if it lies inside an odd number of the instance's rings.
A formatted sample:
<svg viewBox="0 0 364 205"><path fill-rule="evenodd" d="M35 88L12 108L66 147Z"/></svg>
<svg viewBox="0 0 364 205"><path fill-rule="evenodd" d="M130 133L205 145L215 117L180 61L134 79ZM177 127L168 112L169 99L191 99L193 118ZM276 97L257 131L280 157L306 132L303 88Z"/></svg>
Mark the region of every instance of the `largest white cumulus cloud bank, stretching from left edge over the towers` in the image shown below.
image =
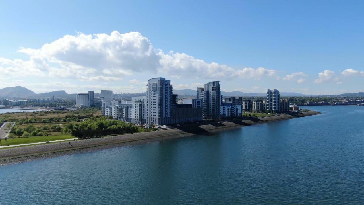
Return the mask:
<svg viewBox="0 0 364 205"><path fill-rule="evenodd" d="M51 76L82 80L118 81L135 73L161 73L192 78L277 77L263 67L234 69L205 62L185 53L154 49L139 32L65 35L39 49L22 48L28 60L0 58L0 71L9 75Z"/></svg>

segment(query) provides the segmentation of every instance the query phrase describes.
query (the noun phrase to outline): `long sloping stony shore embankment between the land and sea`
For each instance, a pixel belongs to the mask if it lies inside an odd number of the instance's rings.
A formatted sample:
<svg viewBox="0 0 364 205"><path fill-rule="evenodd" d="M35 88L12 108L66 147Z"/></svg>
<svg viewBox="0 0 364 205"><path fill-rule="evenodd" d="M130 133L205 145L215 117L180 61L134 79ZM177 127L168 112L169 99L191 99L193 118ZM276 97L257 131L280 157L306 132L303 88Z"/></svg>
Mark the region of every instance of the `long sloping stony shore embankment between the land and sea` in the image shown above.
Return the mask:
<svg viewBox="0 0 364 205"><path fill-rule="evenodd" d="M288 120L298 117L319 115L320 112L308 111L301 115L284 114L278 116L268 116L260 118L250 118L244 120L227 120L221 122L213 122L202 125L185 125L173 129L139 132L133 134L116 135L103 138L94 138L87 140L77 140L69 142L42 144L28 147L17 147L0 150L0 166L13 163L27 162L31 160L50 158L67 154L76 154L81 152L95 151L107 148L128 146L134 144L142 144L160 140L181 138L193 135L213 135L214 132L245 127L250 125L269 123L279 120Z"/></svg>

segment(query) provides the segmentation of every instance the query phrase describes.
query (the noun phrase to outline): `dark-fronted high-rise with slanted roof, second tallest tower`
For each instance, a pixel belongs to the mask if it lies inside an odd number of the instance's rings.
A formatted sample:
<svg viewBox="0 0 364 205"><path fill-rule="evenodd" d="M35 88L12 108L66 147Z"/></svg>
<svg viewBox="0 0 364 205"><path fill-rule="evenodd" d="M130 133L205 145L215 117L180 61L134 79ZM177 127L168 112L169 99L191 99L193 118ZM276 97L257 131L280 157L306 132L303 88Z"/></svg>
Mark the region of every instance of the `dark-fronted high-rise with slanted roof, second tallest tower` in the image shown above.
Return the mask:
<svg viewBox="0 0 364 205"><path fill-rule="evenodd" d="M220 81L208 82L203 91L203 119L219 119L221 92Z"/></svg>

